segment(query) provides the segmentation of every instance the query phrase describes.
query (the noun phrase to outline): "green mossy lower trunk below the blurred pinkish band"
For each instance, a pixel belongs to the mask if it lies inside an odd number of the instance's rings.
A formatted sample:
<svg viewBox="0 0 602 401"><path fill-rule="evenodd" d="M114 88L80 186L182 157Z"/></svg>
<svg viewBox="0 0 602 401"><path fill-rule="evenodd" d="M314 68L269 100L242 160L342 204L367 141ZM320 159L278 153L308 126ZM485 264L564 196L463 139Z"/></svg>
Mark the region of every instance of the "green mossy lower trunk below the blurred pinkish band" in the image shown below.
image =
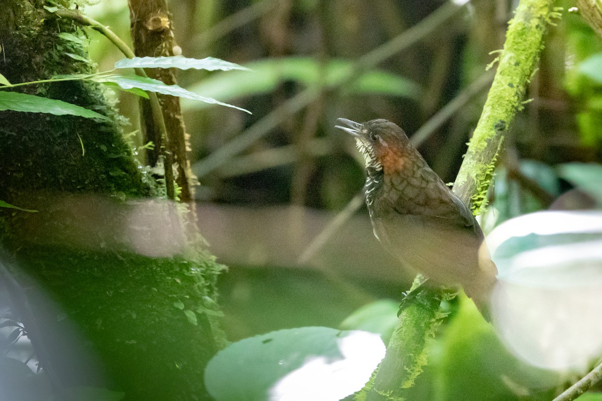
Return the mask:
<svg viewBox="0 0 602 401"><path fill-rule="evenodd" d="M207 335L214 331L215 319L197 314L199 323L190 325L173 302L182 299L196 311L207 308L205 297L216 296L219 269L206 255L198 254L196 260L150 258L31 245L24 246L17 263L29 273L28 287L43 285L64 311L62 317L40 313L38 323L58 333L66 322L75 325L100 351L109 385L125 391L128 399L186 400L204 394L199 378L218 349ZM88 360L79 355L80 347L57 344L48 348L54 364L87 370L81 366ZM96 379L88 378L88 385L101 385ZM64 381L78 384L72 376Z"/></svg>

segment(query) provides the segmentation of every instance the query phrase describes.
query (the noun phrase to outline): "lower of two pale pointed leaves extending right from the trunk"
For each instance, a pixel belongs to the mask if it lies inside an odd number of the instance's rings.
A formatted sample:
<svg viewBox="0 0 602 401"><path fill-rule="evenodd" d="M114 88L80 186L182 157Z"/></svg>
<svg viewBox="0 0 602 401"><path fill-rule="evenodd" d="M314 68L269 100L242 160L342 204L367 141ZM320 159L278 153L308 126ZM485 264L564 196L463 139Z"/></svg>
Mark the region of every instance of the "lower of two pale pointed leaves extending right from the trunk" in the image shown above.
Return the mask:
<svg viewBox="0 0 602 401"><path fill-rule="evenodd" d="M145 78L138 75L105 75L94 76L91 79L96 82L114 82L123 89L140 88L145 91L169 94L171 96L185 97L186 99L199 100L200 102L231 107L251 114L251 112L246 109L229 105L228 103L219 102L211 97L200 96L194 92L187 91L178 85L166 85L158 79Z"/></svg>

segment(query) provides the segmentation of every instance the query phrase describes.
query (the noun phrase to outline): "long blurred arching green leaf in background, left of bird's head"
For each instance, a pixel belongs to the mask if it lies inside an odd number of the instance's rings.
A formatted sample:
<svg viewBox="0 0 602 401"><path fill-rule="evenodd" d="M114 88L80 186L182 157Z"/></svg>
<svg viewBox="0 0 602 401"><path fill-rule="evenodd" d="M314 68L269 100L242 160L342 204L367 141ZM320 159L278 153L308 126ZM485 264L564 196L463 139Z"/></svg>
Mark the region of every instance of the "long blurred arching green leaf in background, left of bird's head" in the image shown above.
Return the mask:
<svg viewBox="0 0 602 401"><path fill-rule="evenodd" d="M231 101L244 96L269 93L285 81L295 81L306 87L326 85L334 87L352 70L353 63L346 60L330 60L326 66L308 57L269 58L246 64L252 72L233 71L216 73L194 85L191 90L205 96ZM382 94L386 96L418 99L420 87L399 75L374 70L359 76L345 87L348 93ZM201 103L184 101L185 109L203 108Z"/></svg>

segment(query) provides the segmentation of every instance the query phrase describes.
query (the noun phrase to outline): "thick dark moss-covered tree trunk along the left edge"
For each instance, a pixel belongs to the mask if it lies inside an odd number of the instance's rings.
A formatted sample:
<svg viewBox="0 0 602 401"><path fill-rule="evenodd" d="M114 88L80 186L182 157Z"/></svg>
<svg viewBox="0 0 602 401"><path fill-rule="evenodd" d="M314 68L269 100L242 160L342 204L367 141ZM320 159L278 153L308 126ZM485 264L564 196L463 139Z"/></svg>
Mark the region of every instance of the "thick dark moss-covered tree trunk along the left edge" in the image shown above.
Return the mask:
<svg viewBox="0 0 602 401"><path fill-rule="evenodd" d="M59 35L80 35L75 23L43 5L0 0L0 73L10 82L92 70L67 55L85 58L82 44ZM43 369L58 391L204 399L203 369L222 341L213 301L220 266L194 230L182 229L192 224L186 207L152 200L160 188L135 162L97 85L21 88L114 121L0 112L0 200L39 210L0 210L0 235L4 263L33 311L34 347L48 357Z"/></svg>

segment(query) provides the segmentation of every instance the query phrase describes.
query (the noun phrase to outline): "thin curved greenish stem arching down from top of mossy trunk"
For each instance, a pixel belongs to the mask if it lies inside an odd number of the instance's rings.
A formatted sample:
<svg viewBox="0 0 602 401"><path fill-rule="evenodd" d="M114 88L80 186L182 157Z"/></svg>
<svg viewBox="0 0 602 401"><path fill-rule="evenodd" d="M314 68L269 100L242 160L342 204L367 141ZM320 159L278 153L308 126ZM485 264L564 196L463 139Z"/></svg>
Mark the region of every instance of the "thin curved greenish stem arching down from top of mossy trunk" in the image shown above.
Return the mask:
<svg viewBox="0 0 602 401"><path fill-rule="evenodd" d="M127 58L134 58L135 54L129 46L119 38L115 34L115 32L111 31L111 29L107 28L107 26L102 25L102 23L94 20L90 17L84 16L83 14L79 14L76 11L71 10L57 10L54 14L61 18L70 18L73 19L82 25L90 26L90 28L95 31L101 32L105 37L108 38ZM143 76L144 78L148 78L144 69L136 68L134 69L137 75ZM159 99L157 98L157 94L151 91L147 91L149 95L149 100L151 102L152 116L155 124L159 127L161 132L161 144L157 145L157 148L160 152L163 152L163 163L165 167L165 186L167 197L171 200L175 199L175 188L173 186L174 178L173 178L173 156L167 147L167 127L165 125L165 120L163 119L163 112L161 111L161 105L159 103Z"/></svg>

